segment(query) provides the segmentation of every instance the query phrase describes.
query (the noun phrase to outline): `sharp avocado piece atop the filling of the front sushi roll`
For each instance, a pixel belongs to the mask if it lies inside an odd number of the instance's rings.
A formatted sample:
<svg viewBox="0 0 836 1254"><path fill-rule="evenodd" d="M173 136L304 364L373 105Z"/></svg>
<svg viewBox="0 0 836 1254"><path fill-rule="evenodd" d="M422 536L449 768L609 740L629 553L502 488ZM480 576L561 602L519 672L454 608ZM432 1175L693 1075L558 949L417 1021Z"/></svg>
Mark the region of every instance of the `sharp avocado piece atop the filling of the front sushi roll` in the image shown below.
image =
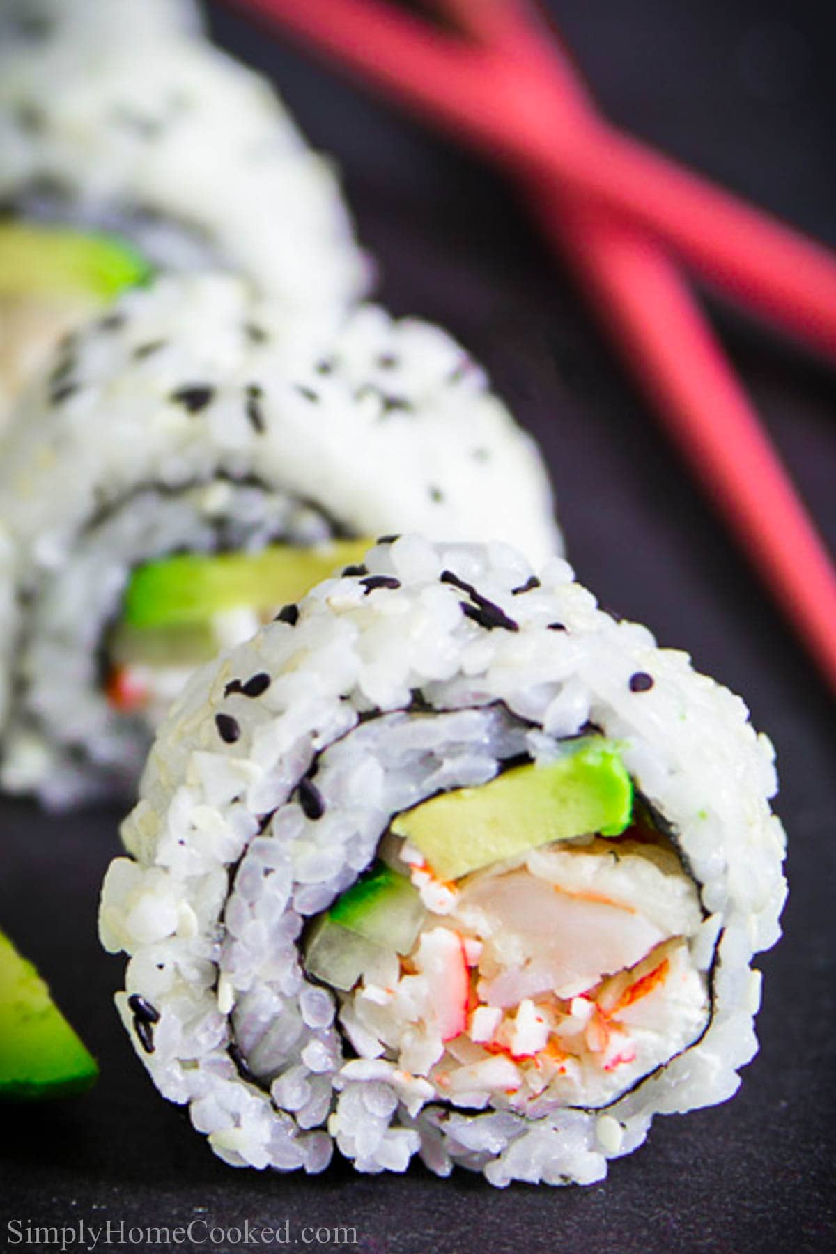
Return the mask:
<svg viewBox="0 0 836 1254"><path fill-rule="evenodd" d="M590 736L546 765L516 766L404 810L391 830L424 854L439 879L459 879L553 840L617 836L632 809L633 785L618 747Z"/></svg>

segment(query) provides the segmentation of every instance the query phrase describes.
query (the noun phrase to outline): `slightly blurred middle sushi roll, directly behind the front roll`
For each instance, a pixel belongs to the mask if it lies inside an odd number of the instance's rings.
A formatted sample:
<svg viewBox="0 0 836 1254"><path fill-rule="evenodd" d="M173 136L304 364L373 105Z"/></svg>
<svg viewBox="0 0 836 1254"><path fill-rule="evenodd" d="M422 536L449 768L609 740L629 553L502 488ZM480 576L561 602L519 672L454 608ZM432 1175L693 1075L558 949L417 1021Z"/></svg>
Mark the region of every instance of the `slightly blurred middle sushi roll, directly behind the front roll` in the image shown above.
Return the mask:
<svg viewBox="0 0 836 1254"><path fill-rule="evenodd" d="M21 401L0 460L8 789L133 796L192 667L376 535L559 545L539 453L444 331L372 306L308 330L238 278L172 275Z"/></svg>

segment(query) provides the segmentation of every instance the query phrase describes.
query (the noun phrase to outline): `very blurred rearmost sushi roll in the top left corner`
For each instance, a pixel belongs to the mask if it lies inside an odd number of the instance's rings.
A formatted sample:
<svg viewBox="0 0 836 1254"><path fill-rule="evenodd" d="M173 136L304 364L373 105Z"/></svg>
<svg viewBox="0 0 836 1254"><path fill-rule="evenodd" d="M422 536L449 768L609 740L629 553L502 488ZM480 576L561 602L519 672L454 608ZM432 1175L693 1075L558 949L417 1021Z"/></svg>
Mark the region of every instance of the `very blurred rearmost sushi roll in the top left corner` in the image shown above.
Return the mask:
<svg viewBox="0 0 836 1254"><path fill-rule="evenodd" d="M173 0L0 0L0 421L153 270L242 272L323 325L367 287L331 164L194 25Z"/></svg>

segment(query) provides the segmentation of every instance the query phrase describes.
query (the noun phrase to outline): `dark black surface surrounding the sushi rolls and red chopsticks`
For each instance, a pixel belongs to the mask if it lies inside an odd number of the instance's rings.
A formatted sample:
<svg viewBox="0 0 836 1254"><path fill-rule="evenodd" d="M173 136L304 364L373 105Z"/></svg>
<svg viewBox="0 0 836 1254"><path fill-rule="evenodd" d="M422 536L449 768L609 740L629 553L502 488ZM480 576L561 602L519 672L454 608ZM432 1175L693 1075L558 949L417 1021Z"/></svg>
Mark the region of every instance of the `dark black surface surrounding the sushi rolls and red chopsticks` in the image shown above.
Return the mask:
<svg viewBox="0 0 836 1254"><path fill-rule="evenodd" d="M550 8L612 118L836 246L830 0ZM224 1228L290 1219L297 1238L303 1224L348 1224L356 1246L307 1248L367 1254L833 1249L832 700L514 193L239 14L216 5L212 24L221 43L274 76L311 140L337 157L380 262L381 298L447 326L540 439L580 578L745 693L773 739L791 841L786 938L761 962L761 1053L738 1096L658 1119L604 1184L498 1191L465 1172L370 1178L345 1164L311 1179L234 1171L152 1088L110 1004L122 959L99 951L94 917L118 814L50 819L4 801L0 919L99 1056L102 1080L75 1102L0 1112L0 1248L8 1218L197 1218ZM712 312L832 545L832 364L726 308Z"/></svg>

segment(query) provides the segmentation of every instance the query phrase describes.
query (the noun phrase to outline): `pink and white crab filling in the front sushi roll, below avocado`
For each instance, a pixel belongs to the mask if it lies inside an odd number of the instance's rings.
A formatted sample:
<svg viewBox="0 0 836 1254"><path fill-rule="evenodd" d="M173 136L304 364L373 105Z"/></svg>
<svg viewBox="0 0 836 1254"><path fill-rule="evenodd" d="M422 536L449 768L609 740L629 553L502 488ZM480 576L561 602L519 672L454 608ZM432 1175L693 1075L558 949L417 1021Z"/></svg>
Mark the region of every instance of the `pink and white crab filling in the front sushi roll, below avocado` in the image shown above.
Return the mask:
<svg viewBox="0 0 836 1254"><path fill-rule="evenodd" d="M426 864L415 879L429 913L412 952L367 972L340 1017L361 1057L394 1057L434 1096L603 1106L703 1031L702 910L662 841L534 849L445 895Z"/></svg>

